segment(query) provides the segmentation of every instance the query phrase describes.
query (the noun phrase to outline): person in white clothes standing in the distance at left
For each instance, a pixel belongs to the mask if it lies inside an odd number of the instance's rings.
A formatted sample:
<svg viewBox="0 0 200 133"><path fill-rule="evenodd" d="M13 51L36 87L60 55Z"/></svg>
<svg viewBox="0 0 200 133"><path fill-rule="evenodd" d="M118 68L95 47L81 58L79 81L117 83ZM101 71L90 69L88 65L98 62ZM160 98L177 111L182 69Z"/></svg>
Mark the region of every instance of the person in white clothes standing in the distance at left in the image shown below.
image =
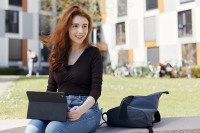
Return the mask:
<svg viewBox="0 0 200 133"><path fill-rule="evenodd" d="M28 60L28 74L26 77L32 76L33 71L33 58L36 56L35 52L31 51L30 49L27 51L27 60Z"/></svg>

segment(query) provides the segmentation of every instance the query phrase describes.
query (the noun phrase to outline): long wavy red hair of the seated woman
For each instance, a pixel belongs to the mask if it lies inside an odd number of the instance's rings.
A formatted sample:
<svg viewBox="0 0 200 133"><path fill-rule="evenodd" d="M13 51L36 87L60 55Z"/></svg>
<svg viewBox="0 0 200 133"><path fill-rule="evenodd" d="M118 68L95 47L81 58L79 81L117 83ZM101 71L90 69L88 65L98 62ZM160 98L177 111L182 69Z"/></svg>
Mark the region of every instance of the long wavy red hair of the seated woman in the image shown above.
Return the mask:
<svg viewBox="0 0 200 133"><path fill-rule="evenodd" d="M47 46L53 46L53 50L49 55L49 68L52 72L62 71L64 67L68 63L69 50L71 48L71 40L69 37L69 28L72 25L72 20L75 16L85 17L88 22L88 34L83 41L83 45L90 46L92 43L90 42L90 33L92 31L92 19L79 6L71 6L67 9L62 18L58 21L58 24L54 28L52 34L50 36L42 36L42 43Z"/></svg>

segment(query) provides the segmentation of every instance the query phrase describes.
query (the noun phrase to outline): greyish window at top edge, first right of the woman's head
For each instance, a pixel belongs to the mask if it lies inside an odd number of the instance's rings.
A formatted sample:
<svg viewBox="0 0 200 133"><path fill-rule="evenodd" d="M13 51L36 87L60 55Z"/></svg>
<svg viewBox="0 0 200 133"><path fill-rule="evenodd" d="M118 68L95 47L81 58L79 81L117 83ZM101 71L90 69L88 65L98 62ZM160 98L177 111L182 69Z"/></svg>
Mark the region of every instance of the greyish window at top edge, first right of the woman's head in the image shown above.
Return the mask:
<svg viewBox="0 0 200 133"><path fill-rule="evenodd" d="M118 3L118 17L127 15L127 0L117 0Z"/></svg>

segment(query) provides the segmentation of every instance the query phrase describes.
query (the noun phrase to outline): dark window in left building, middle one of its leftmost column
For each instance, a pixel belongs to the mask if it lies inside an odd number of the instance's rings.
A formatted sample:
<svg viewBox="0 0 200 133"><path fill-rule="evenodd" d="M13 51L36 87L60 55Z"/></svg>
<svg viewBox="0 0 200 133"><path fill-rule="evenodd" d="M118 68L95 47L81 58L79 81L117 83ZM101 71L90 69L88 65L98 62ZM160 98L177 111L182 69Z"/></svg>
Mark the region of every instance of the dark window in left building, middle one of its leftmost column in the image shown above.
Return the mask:
<svg viewBox="0 0 200 133"><path fill-rule="evenodd" d="M6 32L19 33L19 13L6 11Z"/></svg>

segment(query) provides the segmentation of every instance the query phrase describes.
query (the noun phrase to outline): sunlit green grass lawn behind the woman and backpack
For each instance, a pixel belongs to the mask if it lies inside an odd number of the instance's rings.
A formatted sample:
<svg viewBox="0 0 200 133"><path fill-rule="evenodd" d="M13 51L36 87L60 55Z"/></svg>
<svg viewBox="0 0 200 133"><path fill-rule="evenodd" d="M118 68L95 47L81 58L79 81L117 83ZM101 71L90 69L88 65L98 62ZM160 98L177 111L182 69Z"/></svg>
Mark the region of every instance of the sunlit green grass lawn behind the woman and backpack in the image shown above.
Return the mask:
<svg viewBox="0 0 200 133"><path fill-rule="evenodd" d="M0 119L26 118L28 100L26 91L45 91L48 77L20 77L0 96ZM159 101L162 117L200 116L200 79L116 78L104 75L99 106L104 112L119 106L128 95L148 95L169 91Z"/></svg>

